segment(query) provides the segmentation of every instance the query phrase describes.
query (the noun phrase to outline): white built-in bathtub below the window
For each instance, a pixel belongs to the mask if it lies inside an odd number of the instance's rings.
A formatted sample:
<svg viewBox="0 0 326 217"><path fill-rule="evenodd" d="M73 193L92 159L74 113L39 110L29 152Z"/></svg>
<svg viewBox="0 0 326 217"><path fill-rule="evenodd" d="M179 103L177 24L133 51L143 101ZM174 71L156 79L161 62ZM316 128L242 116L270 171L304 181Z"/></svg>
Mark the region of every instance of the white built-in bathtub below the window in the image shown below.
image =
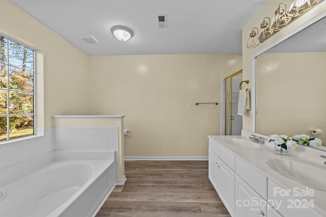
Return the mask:
<svg viewBox="0 0 326 217"><path fill-rule="evenodd" d="M114 161L52 161L0 183L0 216L94 216L115 174Z"/></svg>

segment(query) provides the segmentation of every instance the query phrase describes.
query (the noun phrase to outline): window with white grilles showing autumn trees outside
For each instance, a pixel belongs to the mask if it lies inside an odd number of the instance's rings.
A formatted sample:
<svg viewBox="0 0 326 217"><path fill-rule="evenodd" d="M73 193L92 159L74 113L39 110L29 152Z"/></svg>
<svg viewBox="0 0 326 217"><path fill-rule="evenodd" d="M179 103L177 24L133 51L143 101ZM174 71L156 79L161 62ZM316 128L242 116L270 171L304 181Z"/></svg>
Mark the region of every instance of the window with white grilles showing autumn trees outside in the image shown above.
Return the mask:
<svg viewBox="0 0 326 217"><path fill-rule="evenodd" d="M34 135L34 53L0 36L0 142Z"/></svg>

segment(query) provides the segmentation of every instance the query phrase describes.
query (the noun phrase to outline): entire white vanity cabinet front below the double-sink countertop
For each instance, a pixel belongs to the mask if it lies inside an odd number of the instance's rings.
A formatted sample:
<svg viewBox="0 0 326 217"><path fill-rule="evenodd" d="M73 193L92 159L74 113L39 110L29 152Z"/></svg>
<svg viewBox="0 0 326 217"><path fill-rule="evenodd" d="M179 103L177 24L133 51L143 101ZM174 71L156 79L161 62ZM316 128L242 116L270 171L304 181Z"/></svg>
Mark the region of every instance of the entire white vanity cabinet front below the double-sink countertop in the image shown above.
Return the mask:
<svg viewBox="0 0 326 217"><path fill-rule="evenodd" d="M313 203L313 196L284 195L298 187L280 187L260 172L257 159L247 158L246 161L228 150L227 145L220 145L211 138L208 152L209 179L232 217L323 216L309 204L304 207L307 200ZM249 163L251 161L254 163Z"/></svg>

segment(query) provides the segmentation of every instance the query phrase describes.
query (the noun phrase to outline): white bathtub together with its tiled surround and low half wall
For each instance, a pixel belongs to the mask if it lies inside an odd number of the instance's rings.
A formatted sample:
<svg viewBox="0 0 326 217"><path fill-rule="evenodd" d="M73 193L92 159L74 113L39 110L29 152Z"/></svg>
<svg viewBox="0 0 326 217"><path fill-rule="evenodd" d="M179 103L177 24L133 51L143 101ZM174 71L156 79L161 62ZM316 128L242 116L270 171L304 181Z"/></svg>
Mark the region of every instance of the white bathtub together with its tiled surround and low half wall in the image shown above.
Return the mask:
<svg viewBox="0 0 326 217"><path fill-rule="evenodd" d="M94 216L125 181L118 154L123 117L56 116L59 127L44 137L1 145L9 157L0 169L0 216Z"/></svg>

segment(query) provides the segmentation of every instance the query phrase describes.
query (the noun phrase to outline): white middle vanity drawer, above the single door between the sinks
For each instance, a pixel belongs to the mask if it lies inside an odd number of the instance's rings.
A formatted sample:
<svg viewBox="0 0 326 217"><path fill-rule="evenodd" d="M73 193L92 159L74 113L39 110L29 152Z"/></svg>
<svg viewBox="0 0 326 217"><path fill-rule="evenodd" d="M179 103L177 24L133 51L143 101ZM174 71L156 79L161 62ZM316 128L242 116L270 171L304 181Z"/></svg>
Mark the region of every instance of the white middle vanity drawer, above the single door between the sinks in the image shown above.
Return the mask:
<svg viewBox="0 0 326 217"><path fill-rule="evenodd" d="M250 185L260 196L267 200L267 178L258 171L235 158L235 173Z"/></svg>

